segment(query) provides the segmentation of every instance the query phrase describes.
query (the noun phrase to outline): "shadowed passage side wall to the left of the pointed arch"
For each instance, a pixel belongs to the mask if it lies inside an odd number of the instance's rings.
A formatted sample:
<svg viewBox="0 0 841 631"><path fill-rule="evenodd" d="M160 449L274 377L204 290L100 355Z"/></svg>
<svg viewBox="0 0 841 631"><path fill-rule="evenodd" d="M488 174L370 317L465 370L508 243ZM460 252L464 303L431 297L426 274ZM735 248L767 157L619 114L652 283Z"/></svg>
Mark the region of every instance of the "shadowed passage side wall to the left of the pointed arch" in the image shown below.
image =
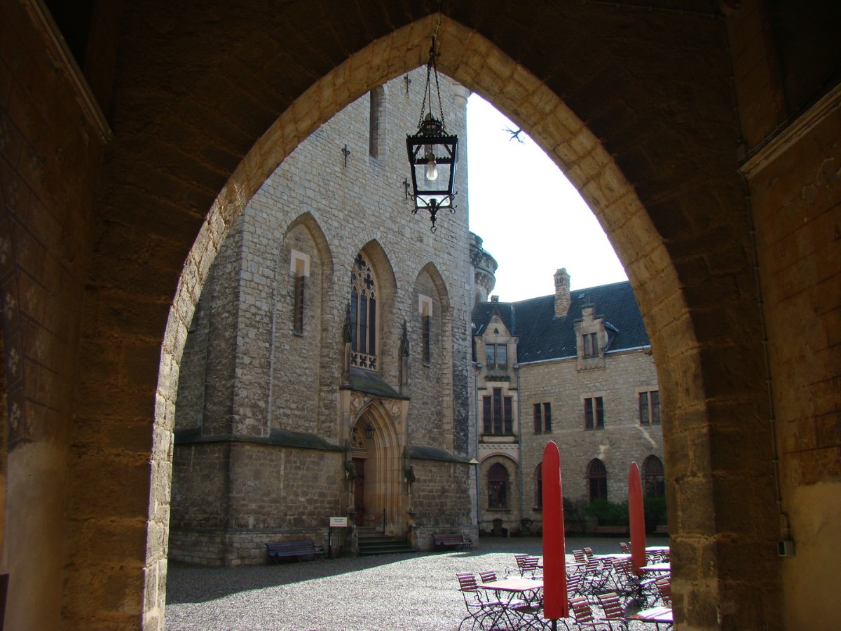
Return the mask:
<svg viewBox="0 0 841 631"><path fill-rule="evenodd" d="M94 547L102 546L94 534L99 526L114 533L104 565L133 563L136 548L122 544L117 534L134 528L125 518L127 503L117 502L108 518L103 518L103 504L125 497L127 489L116 484L117 472L135 464L124 453L97 457L93 452L102 448L100 430L132 434L135 445L148 448L148 437L137 440L136 426L114 418L103 383L113 375L101 375L101 388L77 381L82 331L99 337L98 353L110 353L101 321L82 321L96 232L94 199L110 130L98 108L93 112L80 103L92 95L82 72L62 53L58 40L24 3L0 3L0 291L6 384L0 572L11 577L7 628L61 627L66 590L77 586L78 576L68 578L65 566L87 563ZM141 311L124 317L136 321ZM89 406L87 414L77 416L74 400L80 395ZM78 459L69 457L71 443ZM109 480L107 493L88 494L84 479L93 471ZM148 498L148 486L139 491ZM139 611L140 606L135 600L131 608Z"/></svg>

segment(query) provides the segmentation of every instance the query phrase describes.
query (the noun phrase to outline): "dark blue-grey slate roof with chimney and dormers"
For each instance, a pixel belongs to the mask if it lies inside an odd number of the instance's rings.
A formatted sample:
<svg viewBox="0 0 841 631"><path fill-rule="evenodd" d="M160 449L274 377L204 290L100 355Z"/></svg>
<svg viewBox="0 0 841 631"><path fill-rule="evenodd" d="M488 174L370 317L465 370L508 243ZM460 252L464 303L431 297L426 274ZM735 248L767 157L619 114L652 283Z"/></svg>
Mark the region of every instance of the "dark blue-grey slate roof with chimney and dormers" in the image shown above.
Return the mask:
<svg viewBox="0 0 841 631"><path fill-rule="evenodd" d="M593 305L596 316L604 316L608 334L606 352L649 346L637 300L627 281L574 289L569 292L569 312L555 317L555 296L541 296L519 302L480 302L473 307L473 335L482 335L494 313L520 338L517 362L575 357L575 321L584 305Z"/></svg>

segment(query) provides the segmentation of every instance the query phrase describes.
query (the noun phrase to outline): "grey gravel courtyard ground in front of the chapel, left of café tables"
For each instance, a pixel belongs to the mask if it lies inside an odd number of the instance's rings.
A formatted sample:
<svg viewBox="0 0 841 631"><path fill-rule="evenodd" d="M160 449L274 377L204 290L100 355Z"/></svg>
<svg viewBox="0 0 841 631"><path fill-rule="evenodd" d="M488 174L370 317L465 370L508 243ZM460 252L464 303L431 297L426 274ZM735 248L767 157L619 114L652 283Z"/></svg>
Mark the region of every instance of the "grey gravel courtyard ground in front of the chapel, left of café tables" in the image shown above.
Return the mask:
<svg viewBox="0 0 841 631"><path fill-rule="evenodd" d="M590 546L596 554L619 552L619 541L567 538L567 551ZM664 545L668 539L653 538L648 543ZM167 629L455 631L464 616L456 572L497 570L504 575L506 566L514 565L513 554L541 552L540 538L482 538L473 550L463 552L234 568L172 564Z"/></svg>

